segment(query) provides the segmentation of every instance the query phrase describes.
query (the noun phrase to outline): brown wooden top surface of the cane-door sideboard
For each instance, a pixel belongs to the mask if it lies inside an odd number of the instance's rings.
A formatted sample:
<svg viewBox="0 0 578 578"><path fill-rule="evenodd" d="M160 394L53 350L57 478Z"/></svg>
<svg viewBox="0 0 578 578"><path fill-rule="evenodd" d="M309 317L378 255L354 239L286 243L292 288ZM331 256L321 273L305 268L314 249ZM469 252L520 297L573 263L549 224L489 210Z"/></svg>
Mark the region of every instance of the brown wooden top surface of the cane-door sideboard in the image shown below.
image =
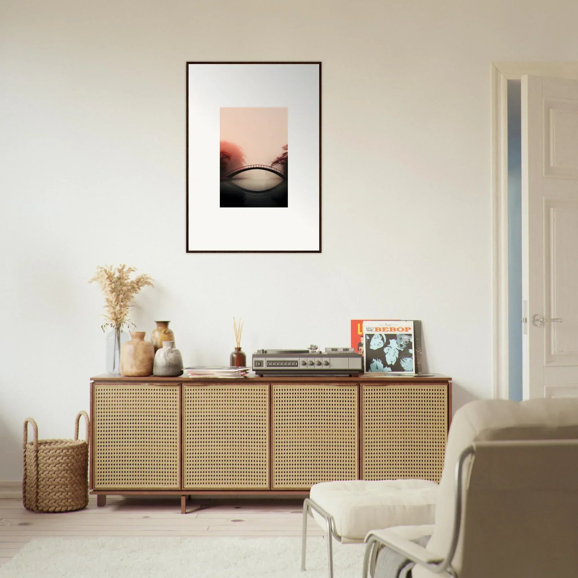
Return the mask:
<svg viewBox="0 0 578 578"><path fill-rule="evenodd" d="M218 378L218 377L156 377L154 375L149 375L147 377L125 377L122 375L110 375L109 373L103 373L102 375L97 375L90 378L91 381L116 381L117 383L142 383L143 381L149 383L214 383L218 381L219 383L229 383L239 384L243 382L247 383L286 383L291 381L291 383L301 382L301 383L447 383L451 381L451 377L442 375L440 373L428 374L427 376L418 377L406 377L406 376L387 376L387 377L372 377L370 373L362 373L359 376L336 376L336 375L320 375L320 376L264 376L264 377L238 377L238 378Z"/></svg>

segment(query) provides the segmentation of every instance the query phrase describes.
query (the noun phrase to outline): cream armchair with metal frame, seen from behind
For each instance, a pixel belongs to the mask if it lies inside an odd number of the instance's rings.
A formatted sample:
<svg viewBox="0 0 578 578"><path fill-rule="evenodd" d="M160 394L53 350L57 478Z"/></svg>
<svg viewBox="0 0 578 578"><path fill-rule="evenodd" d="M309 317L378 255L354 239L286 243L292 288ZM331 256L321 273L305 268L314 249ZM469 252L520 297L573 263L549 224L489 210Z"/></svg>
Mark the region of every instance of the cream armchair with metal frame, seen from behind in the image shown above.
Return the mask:
<svg viewBox="0 0 578 578"><path fill-rule="evenodd" d="M369 532L363 576L389 578L387 546L416 563L413 578L566 578L577 541L578 399L478 401L454 416L435 525Z"/></svg>

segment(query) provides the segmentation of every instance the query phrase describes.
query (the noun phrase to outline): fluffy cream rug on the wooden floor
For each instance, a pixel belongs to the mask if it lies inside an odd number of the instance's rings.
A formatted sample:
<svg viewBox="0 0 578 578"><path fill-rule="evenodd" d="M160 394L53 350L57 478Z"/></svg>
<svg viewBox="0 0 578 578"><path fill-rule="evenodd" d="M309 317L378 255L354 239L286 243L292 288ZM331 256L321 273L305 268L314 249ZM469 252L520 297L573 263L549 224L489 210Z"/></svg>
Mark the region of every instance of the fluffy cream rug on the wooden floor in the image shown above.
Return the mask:
<svg viewBox="0 0 578 578"><path fill-rule="evenodd" d="M361 578L364 544L334 546L335 578ZM48 538L29 542L0 578L327 578L327 542L301 538Z"/></svg>

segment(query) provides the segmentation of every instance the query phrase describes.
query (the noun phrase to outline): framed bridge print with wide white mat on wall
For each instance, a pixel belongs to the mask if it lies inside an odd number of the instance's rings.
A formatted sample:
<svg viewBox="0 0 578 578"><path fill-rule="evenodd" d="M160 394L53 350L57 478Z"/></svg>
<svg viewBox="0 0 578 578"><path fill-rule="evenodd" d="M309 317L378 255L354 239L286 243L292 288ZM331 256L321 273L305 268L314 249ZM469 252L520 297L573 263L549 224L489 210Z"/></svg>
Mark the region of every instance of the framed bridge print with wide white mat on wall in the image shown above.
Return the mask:
<svg viewBox="0 0 578 578"><path fill-rule="evenodd" d="M187 253L277 252L321 252L321 62L187 62Z"/></svg>

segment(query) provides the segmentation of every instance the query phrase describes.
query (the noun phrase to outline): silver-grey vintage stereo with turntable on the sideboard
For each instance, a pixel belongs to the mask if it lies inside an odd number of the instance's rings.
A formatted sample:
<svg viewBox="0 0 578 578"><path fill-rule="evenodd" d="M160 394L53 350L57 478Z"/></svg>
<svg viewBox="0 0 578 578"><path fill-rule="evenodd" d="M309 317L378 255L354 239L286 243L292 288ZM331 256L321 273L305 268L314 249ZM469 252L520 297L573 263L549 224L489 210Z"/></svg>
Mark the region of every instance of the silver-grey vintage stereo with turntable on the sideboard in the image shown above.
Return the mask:
<svg viewBox="0 0 578 578"><path fill-rule="evenodd" d="M309 349L259 349L253 354L253 371L257 375L359 375L363 372L363 355L351 347Z"/></svg>

